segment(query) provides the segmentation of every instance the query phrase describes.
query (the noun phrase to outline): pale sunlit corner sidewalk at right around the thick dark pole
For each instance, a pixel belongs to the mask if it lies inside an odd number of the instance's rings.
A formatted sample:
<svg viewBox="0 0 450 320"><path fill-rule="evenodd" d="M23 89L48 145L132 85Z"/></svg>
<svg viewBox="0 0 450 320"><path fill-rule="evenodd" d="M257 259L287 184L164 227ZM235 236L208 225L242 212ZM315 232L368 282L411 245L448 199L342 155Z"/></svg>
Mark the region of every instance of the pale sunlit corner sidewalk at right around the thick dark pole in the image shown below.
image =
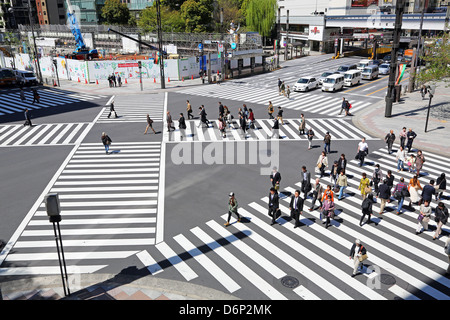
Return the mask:
<svg viewBox="0 0 450 320"><path fill-rule="evenodd" d="M438 153L450 157L447 140L450 137L450 93L445 83L436 86L435 95L431 101L428 128L425 133L425 122L428 110L428 95L424 100L420 91L405 93L401 101L392 106L392 116L386 118L384 100L359 111L352 118L353 123L364 132L384 140L392 129L399 143L399 133L403 127L411 128L417 137L414 139L413 149ZM426 157L426 153L425 153Z"/></svg>

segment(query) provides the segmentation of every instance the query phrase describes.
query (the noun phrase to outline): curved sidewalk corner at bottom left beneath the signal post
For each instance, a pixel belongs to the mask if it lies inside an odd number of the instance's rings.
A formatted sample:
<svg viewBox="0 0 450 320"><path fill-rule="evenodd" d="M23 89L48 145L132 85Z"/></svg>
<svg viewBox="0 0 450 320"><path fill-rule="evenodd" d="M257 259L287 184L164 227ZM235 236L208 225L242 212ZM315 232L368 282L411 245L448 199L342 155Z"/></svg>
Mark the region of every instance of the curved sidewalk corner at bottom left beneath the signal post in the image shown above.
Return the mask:
<svg viewBox="0 0 450 320"><path fill-rule="evenodd" d="M7 281L0 278L0 300L238 300L227 293L200 285L155 278L83 274L78 287L71 284L64 296L60 275Z"/></svg>

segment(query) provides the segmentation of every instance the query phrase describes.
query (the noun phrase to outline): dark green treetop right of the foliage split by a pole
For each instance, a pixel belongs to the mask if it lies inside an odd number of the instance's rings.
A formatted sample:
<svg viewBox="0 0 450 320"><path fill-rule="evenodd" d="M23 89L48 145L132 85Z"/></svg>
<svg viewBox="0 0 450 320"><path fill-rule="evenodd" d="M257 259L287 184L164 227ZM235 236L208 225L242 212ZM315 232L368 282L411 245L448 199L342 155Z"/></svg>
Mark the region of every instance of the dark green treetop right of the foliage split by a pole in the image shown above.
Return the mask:
<svg viewBox="0 0 450 320"><path fill-rule="evenodd" d="M213 0L186 0L181 5L181 17L185 20L185 32L206 32L211 30Z"/></svg>

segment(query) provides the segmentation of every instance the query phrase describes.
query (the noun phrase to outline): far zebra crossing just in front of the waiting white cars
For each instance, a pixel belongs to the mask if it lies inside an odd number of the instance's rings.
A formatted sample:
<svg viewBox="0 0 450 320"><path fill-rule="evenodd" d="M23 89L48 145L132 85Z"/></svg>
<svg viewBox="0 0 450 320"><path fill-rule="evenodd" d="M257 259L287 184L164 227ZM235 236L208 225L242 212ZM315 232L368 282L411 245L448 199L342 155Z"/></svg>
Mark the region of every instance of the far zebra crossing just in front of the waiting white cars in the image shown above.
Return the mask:
<svg viewBox="0 0 450 320"><path fill-rule="evenodd" d="M215 85L205 87L193 87L178 93L198 95L204 97L211 97L217 99L230 99L237 101L245 101L246 103L255 103L268 105L269 101L277 107L281 106L284 109L298 110L299 112L311 112L319 115L335 115L336 117L345 117L345 114L339 114L342 105L342 96L334 94L318 94L314 91L305 93L296 93L291 89L291 95L287 97L280 95L276 85L271 86L272 89L265 88L251 88L242 85ZM346 100L352 105L351 112L355 113L358 110L370 107L373 104L372 100L365 99L364 101L354 100L346 97Z"/></svg>

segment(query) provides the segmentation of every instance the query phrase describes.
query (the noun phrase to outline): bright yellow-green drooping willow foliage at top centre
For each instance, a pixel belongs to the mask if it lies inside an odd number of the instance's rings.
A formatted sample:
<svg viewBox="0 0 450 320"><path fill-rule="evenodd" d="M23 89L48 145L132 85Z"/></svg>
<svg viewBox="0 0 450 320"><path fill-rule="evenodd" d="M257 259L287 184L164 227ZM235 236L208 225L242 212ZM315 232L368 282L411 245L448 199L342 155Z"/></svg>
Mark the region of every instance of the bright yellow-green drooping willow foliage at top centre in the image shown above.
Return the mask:
<svg viewBox="0 0 450 320"><path fill-rule="evenodd" d="M247 27L269 37L276 21L277 0L245 1Z"/></svg>

